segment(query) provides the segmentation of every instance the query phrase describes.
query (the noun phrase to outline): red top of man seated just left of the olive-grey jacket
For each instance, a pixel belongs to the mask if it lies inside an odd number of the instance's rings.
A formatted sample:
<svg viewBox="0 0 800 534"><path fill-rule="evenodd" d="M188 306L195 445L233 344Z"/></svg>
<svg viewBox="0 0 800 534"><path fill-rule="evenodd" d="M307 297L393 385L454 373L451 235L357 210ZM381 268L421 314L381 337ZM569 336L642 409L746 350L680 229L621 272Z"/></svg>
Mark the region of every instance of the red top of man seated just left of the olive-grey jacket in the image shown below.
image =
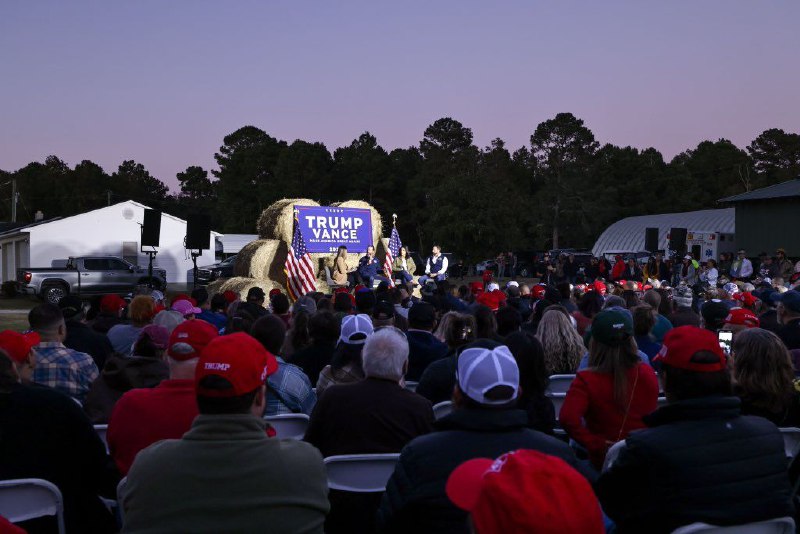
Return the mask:
<svg viewBox="0 0 800 534"><path fill-rule="evenodd" d="M117 401L108 421L108 449L122 476L136 454L162 439L183 436L197 417L194 380L164 380L132 389Z"/></svg>

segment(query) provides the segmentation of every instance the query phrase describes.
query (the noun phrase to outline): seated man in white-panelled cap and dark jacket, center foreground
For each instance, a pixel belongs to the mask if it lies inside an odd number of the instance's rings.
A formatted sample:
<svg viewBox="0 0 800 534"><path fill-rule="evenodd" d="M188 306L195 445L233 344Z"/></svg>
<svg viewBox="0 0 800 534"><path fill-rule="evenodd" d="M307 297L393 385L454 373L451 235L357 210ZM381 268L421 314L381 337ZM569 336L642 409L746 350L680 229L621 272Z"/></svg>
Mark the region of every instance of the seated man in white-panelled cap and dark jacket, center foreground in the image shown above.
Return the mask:
<svg viewBox="0 0 800 534"><path fill-rule="evenodd" d="M466 512L447 498L453 470L472 458L497 458L517 449L557 456L581 471L569 446L526 428L528 416L514 409L519 369L508 347L469 348L458 357L455 410L400 453L378 512L386 532L467 533Z"/></svg>

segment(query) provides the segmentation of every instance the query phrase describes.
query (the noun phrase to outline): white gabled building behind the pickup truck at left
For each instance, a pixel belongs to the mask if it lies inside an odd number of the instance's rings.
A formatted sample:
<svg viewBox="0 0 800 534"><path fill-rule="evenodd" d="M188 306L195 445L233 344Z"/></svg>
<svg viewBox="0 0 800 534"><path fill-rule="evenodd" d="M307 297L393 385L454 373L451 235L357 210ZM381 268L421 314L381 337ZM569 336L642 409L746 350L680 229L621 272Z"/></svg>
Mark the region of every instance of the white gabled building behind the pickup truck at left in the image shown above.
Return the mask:
<svg viewBox="0 0 800 534"><path fill-rule="evenodd" d="M147 206L128 200L72 217L35 222L0 233L0 279L16 278L23 267L58 267L70 256L117 256L147 266L141 251L141 224ZM214 263L217 232L210 232L208 247L198 265ZM192 257L184 248L186 221L161 214L160 246L154 267L167 271L168 284L192 281Z"/></svg>

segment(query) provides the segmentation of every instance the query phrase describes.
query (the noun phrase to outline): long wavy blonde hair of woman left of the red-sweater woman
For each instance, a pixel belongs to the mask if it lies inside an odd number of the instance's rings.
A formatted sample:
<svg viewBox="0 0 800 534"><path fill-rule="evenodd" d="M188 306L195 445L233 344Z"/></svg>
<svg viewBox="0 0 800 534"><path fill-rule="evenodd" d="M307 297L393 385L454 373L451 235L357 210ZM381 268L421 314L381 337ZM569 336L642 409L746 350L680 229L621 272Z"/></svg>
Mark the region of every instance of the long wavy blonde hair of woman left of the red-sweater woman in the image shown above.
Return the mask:
<svg viewBox="0 0 800 534"><path fill-rule="evenodd" d="M536 337L544 348L548 375L572 374L578 368L586 346L569 316L559 310L544 312Z"/></svg>

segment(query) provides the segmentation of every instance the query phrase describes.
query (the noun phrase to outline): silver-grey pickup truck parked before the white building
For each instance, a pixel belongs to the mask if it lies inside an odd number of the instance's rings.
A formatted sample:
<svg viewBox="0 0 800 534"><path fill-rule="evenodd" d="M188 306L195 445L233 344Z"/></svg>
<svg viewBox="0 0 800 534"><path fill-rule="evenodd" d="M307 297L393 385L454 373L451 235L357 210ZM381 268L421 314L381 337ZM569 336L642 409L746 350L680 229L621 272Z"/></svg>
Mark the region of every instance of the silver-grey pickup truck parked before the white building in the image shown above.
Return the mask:
<svg viewBox="0 0 800 534"><path fill-rule="evenodd" d="M136 286L147 285L148 281L147 269L113 256L69 258L64 268L28 267L17 270L21 292L37 295L54 304L68 294L125 295ZM167 286L167 272L154 267L152 283L155 289L163 291Z"/></svg>

